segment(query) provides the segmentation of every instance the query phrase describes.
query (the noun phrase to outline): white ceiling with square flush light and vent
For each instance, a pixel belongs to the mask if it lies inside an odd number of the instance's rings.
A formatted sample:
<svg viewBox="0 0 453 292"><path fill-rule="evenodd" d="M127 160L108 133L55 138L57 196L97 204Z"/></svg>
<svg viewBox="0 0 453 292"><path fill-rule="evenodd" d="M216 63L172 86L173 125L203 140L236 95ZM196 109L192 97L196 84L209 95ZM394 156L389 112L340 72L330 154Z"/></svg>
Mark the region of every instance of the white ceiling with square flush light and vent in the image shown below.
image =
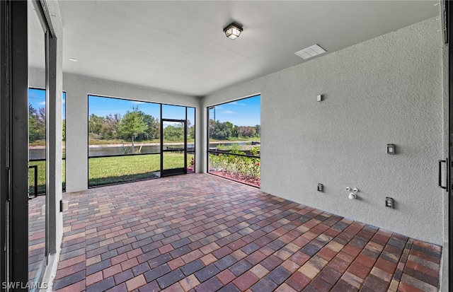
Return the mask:
<svg viewBox="0 0 453 292"><path fill-rule="evenodd" d="M294 54L305 47L328 54L438 16L436 3L59 1L63 69L202 96L309 62ZM243 25L236 40L223 33L231 21Z"/></svg>

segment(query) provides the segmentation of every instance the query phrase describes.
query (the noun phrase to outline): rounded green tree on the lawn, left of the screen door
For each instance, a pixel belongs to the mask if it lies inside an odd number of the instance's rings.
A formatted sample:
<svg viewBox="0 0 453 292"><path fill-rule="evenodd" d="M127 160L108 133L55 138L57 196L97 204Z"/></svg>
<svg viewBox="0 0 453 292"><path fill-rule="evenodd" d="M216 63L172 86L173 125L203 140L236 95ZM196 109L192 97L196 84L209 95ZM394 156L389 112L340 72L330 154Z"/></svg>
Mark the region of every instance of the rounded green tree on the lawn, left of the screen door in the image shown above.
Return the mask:
<svg viewBox="0 0 453 292"><path fill-rule="evenodd" d="M127 111L126 115L122 117L118 133L121 136L132 139L132 153L134 153L134 139L139 134L144 134L148 129L147 123L144 122L143 112L139 107L132 107L132 111Z"/></svg>

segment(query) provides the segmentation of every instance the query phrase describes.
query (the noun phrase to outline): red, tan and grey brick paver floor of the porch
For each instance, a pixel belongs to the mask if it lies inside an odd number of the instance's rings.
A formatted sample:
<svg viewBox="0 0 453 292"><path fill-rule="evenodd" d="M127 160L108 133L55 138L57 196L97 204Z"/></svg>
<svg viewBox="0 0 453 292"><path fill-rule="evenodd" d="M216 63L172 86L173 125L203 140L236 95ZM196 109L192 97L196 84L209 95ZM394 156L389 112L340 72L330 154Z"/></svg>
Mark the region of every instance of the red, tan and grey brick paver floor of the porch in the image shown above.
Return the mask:
<svg viewBox="0 0 453 292"><path fill-rule="evenodd" d="M64 194L55 291L437 291L441 247L205 174Z"/></svg>

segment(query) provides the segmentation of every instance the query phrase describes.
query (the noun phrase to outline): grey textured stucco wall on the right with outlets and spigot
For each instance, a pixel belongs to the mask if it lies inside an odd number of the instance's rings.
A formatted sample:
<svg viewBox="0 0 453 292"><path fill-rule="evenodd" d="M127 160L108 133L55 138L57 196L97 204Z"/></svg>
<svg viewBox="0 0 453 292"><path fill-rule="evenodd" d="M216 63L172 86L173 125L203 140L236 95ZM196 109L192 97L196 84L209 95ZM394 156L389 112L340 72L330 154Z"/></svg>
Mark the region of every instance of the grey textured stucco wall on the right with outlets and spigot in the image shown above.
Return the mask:
<svg viewBox="0 0 453 292"><path fill-rule="evenodd" d="M261 93L263 192L442 245L439 29L434 18L416 23L226 88L203 107Z"/></svg>

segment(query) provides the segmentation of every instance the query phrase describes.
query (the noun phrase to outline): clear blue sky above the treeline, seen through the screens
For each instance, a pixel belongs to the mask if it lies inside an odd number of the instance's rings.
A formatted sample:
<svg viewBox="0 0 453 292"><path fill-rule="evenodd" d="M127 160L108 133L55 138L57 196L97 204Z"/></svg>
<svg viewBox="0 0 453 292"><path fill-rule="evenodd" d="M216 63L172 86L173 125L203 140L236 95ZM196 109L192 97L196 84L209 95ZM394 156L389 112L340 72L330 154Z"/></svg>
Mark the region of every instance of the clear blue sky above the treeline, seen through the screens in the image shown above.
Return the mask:
<svg viewBox="0 0 453 292"><path fill-rule="evenodd" d="M63 96L65 97L65 93ZM231 103L224 103L215 106L215 119L220 122L231 122L237 126L255 126L260 124L260 95L252 98L244 98ZM28 102L36 109L45 107L45 91L42 89L30 88L28 90ZM120 98L103 98L88 95L88 115L95 114L105 117L109 114L119 113L125 115L127 110L138 106L139 110L160 117L160 107L158 103L144 103L133 100L123 100ZM184 119L184 107L174 105L163 105L164 118L166 119ZM64 103L63 103L64 115ZM188 108L188 119L193 121L194 110ZM210 118L214 118L214 110L210 110Z"/></svg>

